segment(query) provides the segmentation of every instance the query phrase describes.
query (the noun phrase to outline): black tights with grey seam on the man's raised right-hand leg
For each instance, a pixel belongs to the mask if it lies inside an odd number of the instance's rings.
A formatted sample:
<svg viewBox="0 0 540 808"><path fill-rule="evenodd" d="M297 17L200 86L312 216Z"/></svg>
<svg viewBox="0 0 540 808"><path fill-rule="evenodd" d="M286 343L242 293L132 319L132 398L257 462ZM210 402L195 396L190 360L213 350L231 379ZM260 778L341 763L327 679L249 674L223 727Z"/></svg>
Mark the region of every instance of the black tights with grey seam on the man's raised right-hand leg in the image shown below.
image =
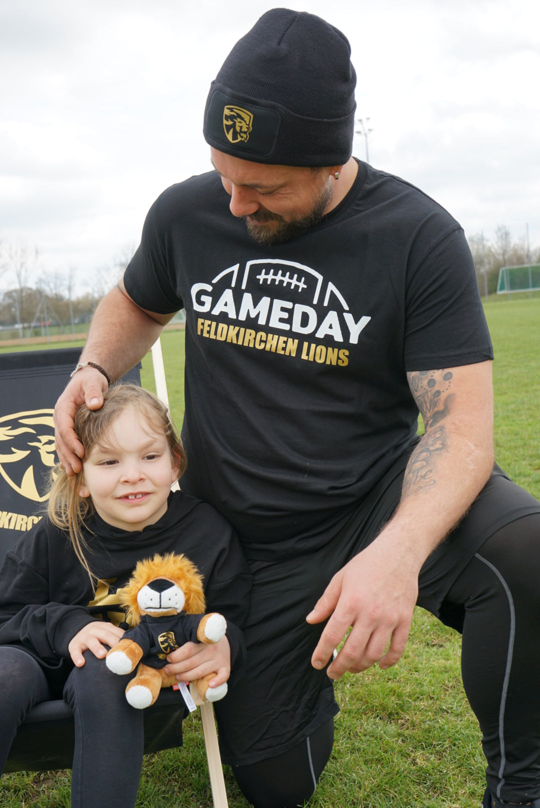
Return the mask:
<svg viewBox="0 0 540 808"><path fill-rule="evenodd" d="M507 524L488 539L446 604L462 612L463 685L482 730L487 785L507 802L537 799L540 514Z"/></svg>

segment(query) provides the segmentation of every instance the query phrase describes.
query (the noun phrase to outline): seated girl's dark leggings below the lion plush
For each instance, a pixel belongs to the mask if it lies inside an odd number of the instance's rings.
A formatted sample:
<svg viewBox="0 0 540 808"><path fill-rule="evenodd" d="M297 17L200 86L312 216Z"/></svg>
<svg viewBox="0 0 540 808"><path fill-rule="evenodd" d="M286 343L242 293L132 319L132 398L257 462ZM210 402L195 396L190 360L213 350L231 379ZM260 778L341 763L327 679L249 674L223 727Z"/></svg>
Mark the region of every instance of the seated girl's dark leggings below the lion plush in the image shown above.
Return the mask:
<svg viewBox="0 0 540 808"><path fill-rule="evenodd" d="M71 805L95 808L99 793L99 808L133 808L141 775L143 711L126 701L124 676L108 671L90 651L84 658L64 688L75 721ZM0 771L27 711L50 697L36 660L19 648L0 646Z"/></svg>

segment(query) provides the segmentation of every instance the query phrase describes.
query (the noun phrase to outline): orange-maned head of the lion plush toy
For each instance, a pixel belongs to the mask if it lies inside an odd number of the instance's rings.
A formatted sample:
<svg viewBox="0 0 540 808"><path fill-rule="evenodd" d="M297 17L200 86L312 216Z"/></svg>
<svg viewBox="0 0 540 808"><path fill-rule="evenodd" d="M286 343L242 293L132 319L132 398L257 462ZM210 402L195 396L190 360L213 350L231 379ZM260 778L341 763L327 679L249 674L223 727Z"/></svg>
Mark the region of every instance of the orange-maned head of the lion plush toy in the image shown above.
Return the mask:
<svg viewBox="0 0 540 808"><path fill-rule="evenodd" d="M154 555L137 563L129 584L124 589L124 606L128 607L130 625L137 625L141 615L163 616L205 612L202 575L184 555Z"/></svg>

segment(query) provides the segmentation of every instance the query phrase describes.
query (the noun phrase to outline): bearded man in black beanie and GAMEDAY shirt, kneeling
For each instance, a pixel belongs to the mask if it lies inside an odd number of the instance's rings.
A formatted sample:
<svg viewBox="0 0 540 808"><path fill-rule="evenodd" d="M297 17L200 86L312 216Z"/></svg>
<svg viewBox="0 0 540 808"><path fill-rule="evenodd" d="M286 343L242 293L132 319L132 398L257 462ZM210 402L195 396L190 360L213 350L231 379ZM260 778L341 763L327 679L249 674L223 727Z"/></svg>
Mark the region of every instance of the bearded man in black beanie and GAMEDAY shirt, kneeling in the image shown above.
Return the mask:
<svg viewBox="0 0 540 808"><path fill-rule="evenodd" d="M331 680L396 663L418 603L463 632L483 805L540 806L540 504L492 470L492 351L462 229L351 157L355 84L348 41L313 15L268 11L234 46L205 110L215 172L150 209L57 404L57 450L80 467L76 407L101 406L106 375L184 306L182 488L234 524L255 582L247 674L217 708L243 792L257 808L310 796ZM199 675L204 654L169 669Z"/></svg>

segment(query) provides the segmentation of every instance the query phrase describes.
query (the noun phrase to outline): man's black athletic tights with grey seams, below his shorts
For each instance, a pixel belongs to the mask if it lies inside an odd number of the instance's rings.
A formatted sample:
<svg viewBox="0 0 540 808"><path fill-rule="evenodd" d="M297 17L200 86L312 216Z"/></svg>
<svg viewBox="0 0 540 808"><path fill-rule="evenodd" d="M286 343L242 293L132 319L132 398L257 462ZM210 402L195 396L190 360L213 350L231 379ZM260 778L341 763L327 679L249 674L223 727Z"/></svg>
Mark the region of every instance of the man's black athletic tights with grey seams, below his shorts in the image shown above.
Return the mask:
<svg viewBox="0 0 540 808"><path fill-rule="evenodd" d="M482 730L491 793L521 804L540 797L540 514L482 545L441 618L463 634L463 684ZM247 799L255 808L302 806L327 764L333 733L331 721L284 755L233 767Z"/></svg>

